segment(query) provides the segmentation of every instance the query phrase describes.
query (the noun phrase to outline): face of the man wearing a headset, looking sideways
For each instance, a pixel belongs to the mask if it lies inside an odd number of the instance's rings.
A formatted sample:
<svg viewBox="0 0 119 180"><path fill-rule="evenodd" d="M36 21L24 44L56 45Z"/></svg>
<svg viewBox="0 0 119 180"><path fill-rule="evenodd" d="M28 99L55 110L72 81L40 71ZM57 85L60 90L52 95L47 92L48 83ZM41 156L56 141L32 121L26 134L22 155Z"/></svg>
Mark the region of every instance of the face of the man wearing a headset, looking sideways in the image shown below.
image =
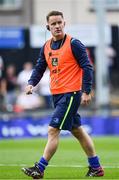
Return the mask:
<svg viewBox="0 0 119 180"><path fill-rule="evenodd" d="M62 37L64 35L65 22L62 16L50 16L48 22L50 31L54 38Z"/></svg>

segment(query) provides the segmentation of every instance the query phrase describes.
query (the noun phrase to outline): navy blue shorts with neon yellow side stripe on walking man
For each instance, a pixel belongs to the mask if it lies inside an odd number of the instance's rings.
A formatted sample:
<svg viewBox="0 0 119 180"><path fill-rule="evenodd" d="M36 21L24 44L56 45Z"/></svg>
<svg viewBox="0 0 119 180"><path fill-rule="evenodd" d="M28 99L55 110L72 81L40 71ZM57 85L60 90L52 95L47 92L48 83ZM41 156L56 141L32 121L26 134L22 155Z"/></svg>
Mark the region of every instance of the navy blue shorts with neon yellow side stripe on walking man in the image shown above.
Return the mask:
<svg viewBox="0 0 119 180"><path fill-rule="evenodd" d="M81 126L81 118L77 113L81 102L81 91L53 95L54 113L50 126L71 131Z"/></svg>

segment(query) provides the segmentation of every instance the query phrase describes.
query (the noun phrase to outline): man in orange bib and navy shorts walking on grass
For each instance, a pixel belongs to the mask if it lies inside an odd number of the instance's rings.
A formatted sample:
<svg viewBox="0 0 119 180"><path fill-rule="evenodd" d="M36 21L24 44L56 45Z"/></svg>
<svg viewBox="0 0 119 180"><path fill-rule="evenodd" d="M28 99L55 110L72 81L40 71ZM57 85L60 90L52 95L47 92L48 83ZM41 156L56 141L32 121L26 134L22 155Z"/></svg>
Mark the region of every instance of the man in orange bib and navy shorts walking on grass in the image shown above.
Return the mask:
<svg viewBox="0 0 119 180"><path fill-rule="evenodd" d="M104 170L92 139L82 128L81 117L77 113L80 103L88 105L91 101L93 67L85 46L64 33L63 13L51 11L46 19L46 27L51 31L52 38L41 48L39 59L26 87L26 94L32 94L34 86L39 83L48 67L54 113L42 157L33 167L24 167L22 170L33 179L42 179L45 168L58 148L60 131L69 130L77 138L88 158L89 169L86 176L103 176Z"/></svg>

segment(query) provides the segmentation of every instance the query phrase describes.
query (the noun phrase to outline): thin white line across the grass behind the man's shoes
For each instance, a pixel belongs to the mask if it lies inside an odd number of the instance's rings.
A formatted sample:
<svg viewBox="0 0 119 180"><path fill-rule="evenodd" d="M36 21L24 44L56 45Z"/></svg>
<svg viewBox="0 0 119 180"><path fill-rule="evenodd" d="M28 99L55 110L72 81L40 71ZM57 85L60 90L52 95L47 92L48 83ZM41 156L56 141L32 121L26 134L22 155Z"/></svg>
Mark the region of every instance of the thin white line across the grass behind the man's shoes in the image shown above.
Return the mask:
<svg viewBox="0 0 119 180"><path fill-rule="evenodd" d="M14 167L14 166L29 166L27 164L0 164L0 166L6 166L6 167ZM55 164L51 164L49 165L49 167L61 167L61 168L86 168L86 166L83 165L55 165ZM104 165L103 168L106 169L119 169L119 165Z"/></svg>

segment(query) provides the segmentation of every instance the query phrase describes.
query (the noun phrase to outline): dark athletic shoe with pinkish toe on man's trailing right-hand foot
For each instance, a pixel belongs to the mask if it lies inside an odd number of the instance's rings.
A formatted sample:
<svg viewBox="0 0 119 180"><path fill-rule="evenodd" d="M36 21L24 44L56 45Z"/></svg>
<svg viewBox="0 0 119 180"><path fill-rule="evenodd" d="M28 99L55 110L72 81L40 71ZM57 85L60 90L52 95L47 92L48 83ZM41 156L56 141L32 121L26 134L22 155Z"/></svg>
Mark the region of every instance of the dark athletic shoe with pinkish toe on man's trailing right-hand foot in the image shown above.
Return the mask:
<svg viewBox="0 0 119 180"><path fill-rule="evenodd" d="M92 167L88 167L89 170L86 174L86 176L89 176L89 177L100 177L100 176L104 176L104 170L103 168L100 166L98 168L92 168Z"/></svg>

